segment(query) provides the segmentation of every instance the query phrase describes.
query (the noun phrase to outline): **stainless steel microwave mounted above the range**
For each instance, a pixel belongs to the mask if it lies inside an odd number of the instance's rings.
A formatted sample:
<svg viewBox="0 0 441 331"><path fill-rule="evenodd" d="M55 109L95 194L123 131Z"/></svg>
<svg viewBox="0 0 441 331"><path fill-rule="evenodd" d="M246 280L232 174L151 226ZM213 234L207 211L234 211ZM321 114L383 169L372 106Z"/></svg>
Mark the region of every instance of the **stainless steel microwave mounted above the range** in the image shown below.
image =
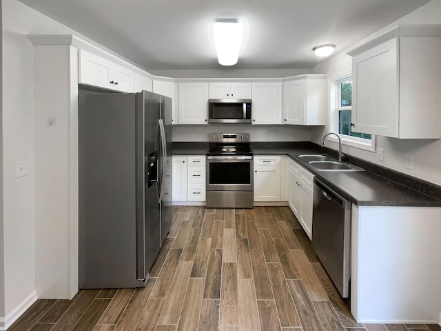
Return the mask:
<svg viewBox="0 0 441 331"><path fill-rule="evenodd" d="M209 99L208 123L251 123L251 99Z"/></svg>

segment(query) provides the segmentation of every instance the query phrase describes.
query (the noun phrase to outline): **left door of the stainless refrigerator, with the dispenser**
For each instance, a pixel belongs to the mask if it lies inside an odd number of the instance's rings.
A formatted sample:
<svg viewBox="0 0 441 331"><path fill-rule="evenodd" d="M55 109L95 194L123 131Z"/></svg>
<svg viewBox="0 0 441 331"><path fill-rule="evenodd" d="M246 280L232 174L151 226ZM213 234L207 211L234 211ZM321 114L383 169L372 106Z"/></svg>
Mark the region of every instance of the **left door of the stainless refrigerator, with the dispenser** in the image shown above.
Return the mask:
<svg viewBox="0 0 441 331"><path fill-rule="evenodd" d="M161 248L161 210L158 201L158 150L156 129L160 116L159 94L136 94L136 277L145 281ZM152 163L155 163L152 165ZM150 179L150 181L149 181Z"/></svg>

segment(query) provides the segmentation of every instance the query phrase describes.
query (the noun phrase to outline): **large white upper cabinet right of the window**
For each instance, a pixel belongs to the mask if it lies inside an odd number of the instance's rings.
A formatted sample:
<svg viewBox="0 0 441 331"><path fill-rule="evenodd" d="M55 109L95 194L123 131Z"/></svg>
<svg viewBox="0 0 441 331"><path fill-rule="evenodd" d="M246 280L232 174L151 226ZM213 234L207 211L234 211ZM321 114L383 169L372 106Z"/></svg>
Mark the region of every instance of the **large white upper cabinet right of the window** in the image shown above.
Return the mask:
<svg viewBox="0 0 441 331"><path fill-rule="evenodd" d="M347 54L354 132L441 138L441 26L398 26Z"/></svg>

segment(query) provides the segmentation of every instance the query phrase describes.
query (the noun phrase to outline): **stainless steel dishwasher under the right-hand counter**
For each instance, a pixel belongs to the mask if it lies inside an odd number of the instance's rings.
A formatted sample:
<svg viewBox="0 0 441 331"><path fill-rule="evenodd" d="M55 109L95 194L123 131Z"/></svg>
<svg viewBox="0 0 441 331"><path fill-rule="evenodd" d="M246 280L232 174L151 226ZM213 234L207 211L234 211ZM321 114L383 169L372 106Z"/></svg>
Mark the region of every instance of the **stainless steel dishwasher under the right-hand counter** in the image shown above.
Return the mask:
<svg viewBox="0 0 441 331"><path fill-rule="evenodd" d="M312 247L343 298L349 296L351 202L314 178Z"/></svg>

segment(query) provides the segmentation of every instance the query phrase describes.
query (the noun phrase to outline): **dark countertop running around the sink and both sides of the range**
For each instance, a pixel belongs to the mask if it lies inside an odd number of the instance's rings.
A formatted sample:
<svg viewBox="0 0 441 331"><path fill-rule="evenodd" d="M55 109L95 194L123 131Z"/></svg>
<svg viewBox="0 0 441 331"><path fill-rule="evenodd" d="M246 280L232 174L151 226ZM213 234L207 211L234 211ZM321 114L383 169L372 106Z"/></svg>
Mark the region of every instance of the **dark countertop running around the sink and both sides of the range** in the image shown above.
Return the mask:
<svg viewBox="0 0 441 331"><path fill-rule="evenodd" d="M209 143L174 143L174 155L203 155ZM300 154L331 154L336 151L320 148L309 142L252 143L254 155L287 155L309 172L356 205L441 207L441 187L405 174L373 165L351 156L344 161L353 163L365 171L320 172L314 170Z"/></svg>

